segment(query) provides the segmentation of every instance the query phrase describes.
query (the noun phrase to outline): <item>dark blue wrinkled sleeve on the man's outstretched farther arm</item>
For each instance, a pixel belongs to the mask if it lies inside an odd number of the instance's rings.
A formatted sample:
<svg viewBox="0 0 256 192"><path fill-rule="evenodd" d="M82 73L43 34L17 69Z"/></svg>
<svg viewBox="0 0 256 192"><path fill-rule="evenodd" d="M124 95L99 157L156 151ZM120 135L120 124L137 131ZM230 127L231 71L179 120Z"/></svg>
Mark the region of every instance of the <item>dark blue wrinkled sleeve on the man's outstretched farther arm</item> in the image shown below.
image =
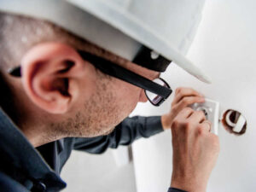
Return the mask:
<svg viewBox="0 0 256 192"><path fill-rule="evenodd" d="M74 138L73 149L102 154L108 148L129 145L141 137L151 137L163 131L160 116L135 116L124 119L107 136Z"/></svg>

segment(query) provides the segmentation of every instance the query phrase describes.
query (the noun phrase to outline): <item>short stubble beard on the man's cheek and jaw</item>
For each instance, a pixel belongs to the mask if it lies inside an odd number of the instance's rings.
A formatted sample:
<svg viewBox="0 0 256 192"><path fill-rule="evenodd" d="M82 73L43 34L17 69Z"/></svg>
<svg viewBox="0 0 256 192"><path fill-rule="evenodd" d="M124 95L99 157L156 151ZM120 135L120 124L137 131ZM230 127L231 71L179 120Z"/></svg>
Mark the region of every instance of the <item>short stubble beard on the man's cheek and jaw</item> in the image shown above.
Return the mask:
<svg viewBox="0 0 256 192"><path fill-rule="evenodd" d="M109 77L97 79L96 91L88 101L84 102L84 110L80 110L59 127L62 135L97 137L111 133L115 126L132 111L130 105L120 105L114 94L118 90L113 84L113 79Z"/></svg>

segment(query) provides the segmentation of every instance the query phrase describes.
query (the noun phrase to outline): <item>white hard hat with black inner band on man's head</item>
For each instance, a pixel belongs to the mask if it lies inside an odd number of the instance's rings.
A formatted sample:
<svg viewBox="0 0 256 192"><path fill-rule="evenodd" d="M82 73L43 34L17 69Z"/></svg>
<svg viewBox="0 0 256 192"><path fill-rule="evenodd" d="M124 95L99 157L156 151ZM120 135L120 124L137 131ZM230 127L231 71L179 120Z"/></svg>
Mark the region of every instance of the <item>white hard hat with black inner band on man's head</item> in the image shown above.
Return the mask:
<svg viewBox="0 0 256 192"><path fill-rule="evenodd" d="M125 59L138 58L141 63L137 64L156 71L165 71L174 61L210 83L210 78L185 57L204 1L1 0L0 10L49 20ZM138 52L150 58L143 61Z"/></svg>

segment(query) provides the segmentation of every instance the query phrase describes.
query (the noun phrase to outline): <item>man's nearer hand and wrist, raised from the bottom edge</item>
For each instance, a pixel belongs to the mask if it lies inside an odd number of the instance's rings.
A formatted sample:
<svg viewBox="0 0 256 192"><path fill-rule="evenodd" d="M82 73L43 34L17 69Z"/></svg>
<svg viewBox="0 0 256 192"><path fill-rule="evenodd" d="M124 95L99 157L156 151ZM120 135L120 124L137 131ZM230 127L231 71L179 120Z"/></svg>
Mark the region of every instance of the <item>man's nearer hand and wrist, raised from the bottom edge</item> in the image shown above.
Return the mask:
<svg viewBox="0 0 256 192"><path fill-rule="evenodd" d="M210 132L204 113L183 108L172 123L171 187L205 192L219 152L218 137Z"/></svg>

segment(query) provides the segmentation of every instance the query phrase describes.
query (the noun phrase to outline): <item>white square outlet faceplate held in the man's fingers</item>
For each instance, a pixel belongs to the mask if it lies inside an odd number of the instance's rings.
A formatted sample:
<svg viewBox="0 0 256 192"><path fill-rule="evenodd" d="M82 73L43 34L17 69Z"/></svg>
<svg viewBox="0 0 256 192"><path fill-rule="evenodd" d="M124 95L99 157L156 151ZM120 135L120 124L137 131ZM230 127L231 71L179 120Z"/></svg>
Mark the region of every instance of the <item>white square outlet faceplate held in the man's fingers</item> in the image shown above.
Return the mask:
<svg viewBox="0 0 256 192"><path fill-rule="evenodd" d="M191 108L193 108L195 111L203 111L206 114L207 119L212 122L211 132L218 135L219 103L210 99L205 99L205 101L206 102L204 103L195 102L193 105L191 105Z"/></svg>

